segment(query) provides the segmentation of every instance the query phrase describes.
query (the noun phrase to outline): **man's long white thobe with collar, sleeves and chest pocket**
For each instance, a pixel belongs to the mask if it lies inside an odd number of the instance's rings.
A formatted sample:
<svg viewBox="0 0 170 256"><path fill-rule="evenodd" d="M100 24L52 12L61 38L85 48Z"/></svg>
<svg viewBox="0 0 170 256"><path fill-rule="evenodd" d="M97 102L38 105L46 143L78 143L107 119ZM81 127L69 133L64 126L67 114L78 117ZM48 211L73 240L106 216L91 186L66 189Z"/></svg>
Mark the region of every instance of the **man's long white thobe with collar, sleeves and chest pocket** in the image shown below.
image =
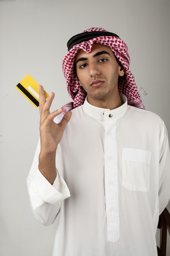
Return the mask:
<svg viewBox="0 0 170 256"><path fill-rule="evenodd" d="M27 185L36 219L59 218L53 256L157 255L159 214L170 199L167 130L121 96L113 110L87 100L72 110L53 185L38 170L38 143Z"/></svg>

